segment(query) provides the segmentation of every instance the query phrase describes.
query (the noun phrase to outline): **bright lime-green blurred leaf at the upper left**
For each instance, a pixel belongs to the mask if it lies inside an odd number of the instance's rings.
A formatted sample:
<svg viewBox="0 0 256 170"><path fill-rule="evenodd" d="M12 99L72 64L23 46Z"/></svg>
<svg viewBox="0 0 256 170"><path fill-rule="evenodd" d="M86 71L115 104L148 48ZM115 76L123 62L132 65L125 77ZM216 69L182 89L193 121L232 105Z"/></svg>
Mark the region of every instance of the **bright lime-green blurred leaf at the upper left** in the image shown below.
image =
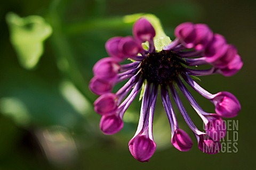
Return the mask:
<svg viewBox="0 0 256 170"><path fill-rule="evenodd" d="M8 13L6 22L20 64L26 69L33 69L43 54L43 41L52 33L51 26L41 16L20 18L15 13Z"/></svg>

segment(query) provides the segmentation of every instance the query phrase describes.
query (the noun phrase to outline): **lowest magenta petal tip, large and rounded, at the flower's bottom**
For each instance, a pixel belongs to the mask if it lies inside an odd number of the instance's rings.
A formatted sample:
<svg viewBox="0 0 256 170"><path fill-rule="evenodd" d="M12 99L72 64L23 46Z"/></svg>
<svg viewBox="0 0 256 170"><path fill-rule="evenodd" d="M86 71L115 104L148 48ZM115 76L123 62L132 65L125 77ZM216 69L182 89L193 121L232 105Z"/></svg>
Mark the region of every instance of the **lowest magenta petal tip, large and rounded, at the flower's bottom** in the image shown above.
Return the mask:
<svg viewBox="0 0 256 170"><path fill-rule="evenodd" d="M148 162L156 150L156 143L146 135L139 134L129 142L129 150L135 159Z"/></svg>

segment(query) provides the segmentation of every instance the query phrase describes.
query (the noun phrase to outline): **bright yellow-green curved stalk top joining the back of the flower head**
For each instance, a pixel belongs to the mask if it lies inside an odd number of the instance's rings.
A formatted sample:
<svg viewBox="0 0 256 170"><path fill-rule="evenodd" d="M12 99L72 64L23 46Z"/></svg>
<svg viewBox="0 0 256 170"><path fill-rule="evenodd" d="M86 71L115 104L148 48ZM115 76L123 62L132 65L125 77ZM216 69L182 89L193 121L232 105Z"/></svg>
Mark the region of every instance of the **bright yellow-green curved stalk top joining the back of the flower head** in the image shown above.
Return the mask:
<svg viewBox="0 0 256 170"><path fill-rule="evenodd" d="M137 21L139 18L146 18L155 28L156 36L154 38L155 48L157 52L160 52L164 46L171 43L170 37L166 36L164 30L162 28L160 20L153 14L133 14L124 16L125 23L133 23ZM142 47L148 49L148 43L143 43Z"/></svg>

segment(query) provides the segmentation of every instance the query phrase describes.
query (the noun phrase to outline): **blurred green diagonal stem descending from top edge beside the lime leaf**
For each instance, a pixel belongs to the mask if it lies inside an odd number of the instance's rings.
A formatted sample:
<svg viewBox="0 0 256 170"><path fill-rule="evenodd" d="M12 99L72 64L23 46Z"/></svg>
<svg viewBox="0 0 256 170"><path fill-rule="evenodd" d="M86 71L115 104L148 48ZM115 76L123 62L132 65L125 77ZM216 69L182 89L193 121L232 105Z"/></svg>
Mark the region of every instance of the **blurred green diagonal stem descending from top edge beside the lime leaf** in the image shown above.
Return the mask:
<svg viewBox="0 0 256 170"><path fill-rule="evenodd" d="M90 103L93 103L94 99L91 97L91 91L88 88L89 83L87 83L89 80L85 80L81 74L67 37L62 30L61 18L57 10L59 3L60 0L52 2L49 17L47 18L53 28L50 41L57 57L58 67L63 75L67 76L75 84L77 89L82 92Z"/></svg>

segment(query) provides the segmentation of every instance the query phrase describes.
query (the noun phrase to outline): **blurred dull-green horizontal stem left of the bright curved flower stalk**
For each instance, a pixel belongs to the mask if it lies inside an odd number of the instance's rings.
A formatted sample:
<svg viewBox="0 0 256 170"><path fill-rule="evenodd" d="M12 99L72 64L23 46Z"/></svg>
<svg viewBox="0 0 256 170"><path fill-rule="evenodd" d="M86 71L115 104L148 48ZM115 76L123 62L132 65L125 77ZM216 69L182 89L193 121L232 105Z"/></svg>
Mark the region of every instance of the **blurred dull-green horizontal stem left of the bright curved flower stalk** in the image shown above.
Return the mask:
<svg viewBox="0 0 256 170"><path fill-rule="evenodd" d="M86 20L83 22L73 23L67 25L65 32L68 35L80 35L84 32L89 32L93 30L118 30L123 28L131 28L133 23L124 22L123 17L116 18L101 18L101 19L93 19Z"/></svg>

